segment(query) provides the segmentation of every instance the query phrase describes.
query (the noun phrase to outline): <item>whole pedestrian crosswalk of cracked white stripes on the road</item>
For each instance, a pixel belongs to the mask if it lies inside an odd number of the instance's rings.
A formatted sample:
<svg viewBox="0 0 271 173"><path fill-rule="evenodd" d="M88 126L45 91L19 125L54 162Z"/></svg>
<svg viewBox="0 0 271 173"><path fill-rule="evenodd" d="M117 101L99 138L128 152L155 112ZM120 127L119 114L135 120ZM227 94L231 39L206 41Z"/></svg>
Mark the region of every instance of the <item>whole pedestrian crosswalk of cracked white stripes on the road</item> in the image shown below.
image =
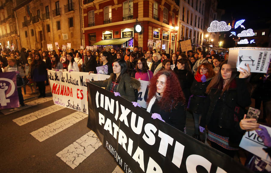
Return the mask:
<svg viewBox="0 0 271 173"><path fill-rule="evenodd" d="M11 113L16 113L17 111L20 111L26 108L33 107L35 105L42 105L43 103L49 102L49 101L52 101L52 97L45 97L42 99L34 100L32 102L28 102L26 103L27 105L26 107L20 107L20 108L11 109L11 110L2 110L1 112L5 115L8 115ZM65 109L68 109L68 108L53 104L52 106L48 106L43 109L33 111L32 113L28 113L26 115L17 117L16 119L13 119L12 121L16 123L18 127L23 128L24 125L26 124L30 124L29 126L31 126L31 123L35 123L35 121L38 119L40 119L39 121L42 122L44 118L55 115L57 111L64 112ZM87 114L76 111L67 116L64 116L61 119L53 120L53 122L49 124L46 123L47 125L44 123L43 127L39 126L38 129L33 129L33 131L30 132L30 134L39 142L44 142L48 138L54 137L54 135L60 133L61 131L65 129L69 130L71 126L82 121L83 119L86 120L87 117L88 117ZM81 137L79 136L77 140L70 143L70 145L66 145L67 147L64 146L62 150L59 151L58 153L55 153L55 155L59 157L60 161L62 160L70 168L75 169L76 167L79 166L80 163L82 163L86 158L88 158L92 153L94 153L101 145L102 143L98 139L95 132L90 130L83 136ZM48 147L50 147L50 145L48 145ZM47 148L45 150L50 150L50 148ZM123 173L123 171L121 170L119 166L116 166L116 168L114 168L112 173L113 172Z"/></svg>

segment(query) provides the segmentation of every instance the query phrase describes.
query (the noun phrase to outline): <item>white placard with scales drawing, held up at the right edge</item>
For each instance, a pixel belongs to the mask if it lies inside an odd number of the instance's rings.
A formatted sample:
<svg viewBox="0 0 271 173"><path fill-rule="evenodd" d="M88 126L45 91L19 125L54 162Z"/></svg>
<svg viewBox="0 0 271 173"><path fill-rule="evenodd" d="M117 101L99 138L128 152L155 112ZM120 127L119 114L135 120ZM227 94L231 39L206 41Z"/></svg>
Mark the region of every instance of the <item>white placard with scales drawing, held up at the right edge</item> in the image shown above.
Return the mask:
<svg viewBox="0 0 271 173"><path fill-rule="evenodd" d="M247 64L252 73L266 73L271 58L271 48L252 48L239 47L229 48L229 63L236 67L237 71L243 71L240 68L248 70ZM236 66L235 66L236 65Z"/></svg>

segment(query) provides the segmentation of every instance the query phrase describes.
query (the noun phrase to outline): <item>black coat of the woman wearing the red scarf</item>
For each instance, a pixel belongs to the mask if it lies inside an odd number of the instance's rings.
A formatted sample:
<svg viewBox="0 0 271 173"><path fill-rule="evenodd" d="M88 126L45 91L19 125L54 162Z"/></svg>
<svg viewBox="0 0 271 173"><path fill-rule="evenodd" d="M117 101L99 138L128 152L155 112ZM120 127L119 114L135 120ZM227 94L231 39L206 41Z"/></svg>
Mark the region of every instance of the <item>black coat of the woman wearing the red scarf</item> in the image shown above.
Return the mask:
<svg viewBox="0 0 271 173"><path fill-rule="evenodd" d="M189 109L194 113L202 114L205 109L205 100L207 97L206 88L210 84L211 78L206 79L206 82L198 82L194 79L191 86L191 94L193 96L190 98ZM201 96L201 97L200 97Z"/></svg>

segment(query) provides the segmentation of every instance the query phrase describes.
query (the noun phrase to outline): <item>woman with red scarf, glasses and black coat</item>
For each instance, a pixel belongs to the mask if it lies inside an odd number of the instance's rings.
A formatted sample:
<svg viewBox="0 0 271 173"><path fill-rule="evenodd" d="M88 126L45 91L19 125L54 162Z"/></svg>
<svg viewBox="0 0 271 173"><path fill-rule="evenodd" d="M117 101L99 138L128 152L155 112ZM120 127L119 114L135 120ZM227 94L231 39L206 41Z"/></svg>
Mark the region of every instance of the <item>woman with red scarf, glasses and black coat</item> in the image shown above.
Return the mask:
<svg viewBox="0 0 271 173"><path fill-rule="evenodd" d="M210 63L202 63L196 71L195 79L190 89L192 95L188 100L187 107L193 112L194 116L195 134L193 137L195 139L198 139L199 141L201 141L198 130L199 122L204 109L207 109L206 107L204 107L207 96L205 92L207 86L209 85L211 79L214 76L215 73L213 72L212 65ZM204 139L202 140L202 142L205 141L205 134L203 135L203 137Z"/></svg>

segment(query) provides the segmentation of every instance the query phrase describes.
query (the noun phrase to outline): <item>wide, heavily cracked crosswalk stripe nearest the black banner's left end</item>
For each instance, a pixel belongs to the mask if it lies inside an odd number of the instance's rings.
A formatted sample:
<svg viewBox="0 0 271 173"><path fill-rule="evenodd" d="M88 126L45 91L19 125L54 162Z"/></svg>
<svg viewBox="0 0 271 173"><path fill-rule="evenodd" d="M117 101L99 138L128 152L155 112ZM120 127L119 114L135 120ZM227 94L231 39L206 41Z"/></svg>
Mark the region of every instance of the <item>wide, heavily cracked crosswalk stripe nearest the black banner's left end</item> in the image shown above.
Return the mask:
<svg viewBox="0 0 271 173"><path fill-rule="evenodd" d="M94 131L89 131L56 155L74 169L101 145Z"/></svg>

